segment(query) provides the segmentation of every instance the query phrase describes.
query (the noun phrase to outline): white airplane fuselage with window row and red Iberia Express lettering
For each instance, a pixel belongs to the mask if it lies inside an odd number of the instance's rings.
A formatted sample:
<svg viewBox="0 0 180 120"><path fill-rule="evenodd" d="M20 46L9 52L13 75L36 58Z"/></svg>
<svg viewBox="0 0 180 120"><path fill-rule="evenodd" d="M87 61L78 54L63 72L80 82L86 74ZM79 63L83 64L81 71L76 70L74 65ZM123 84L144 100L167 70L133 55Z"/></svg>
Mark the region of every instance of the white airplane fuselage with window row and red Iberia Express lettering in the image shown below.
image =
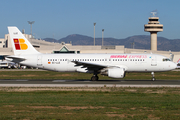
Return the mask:
<svg viewBox="0 0 180 120"><path fill-rule="evenodd" d="M126 72L169 71L176 67L156 54L36 54L23 55L23 65L60 72L87 72L72 61L125 68Z"/></svg>

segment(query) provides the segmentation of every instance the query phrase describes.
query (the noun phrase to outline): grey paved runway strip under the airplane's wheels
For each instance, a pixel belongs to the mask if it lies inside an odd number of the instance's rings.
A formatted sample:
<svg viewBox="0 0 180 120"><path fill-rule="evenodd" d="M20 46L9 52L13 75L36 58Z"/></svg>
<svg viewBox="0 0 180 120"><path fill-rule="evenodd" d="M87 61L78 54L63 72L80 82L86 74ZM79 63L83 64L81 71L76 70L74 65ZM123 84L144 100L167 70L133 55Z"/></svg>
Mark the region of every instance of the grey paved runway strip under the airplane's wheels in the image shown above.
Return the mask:
<svg viewBox="0 0 180 120"><path fill-rule="evenodd" d="M0 80L1 87L180 87L180 80Z"/></svg>

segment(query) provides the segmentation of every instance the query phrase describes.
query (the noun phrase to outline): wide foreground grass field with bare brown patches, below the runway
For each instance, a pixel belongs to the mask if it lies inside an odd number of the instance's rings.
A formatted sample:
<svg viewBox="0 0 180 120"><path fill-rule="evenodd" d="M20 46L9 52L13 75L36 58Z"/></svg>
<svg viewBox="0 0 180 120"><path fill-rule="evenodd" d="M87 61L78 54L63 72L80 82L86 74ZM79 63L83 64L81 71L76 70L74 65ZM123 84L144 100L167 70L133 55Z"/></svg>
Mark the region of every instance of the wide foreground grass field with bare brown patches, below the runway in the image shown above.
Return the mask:
<svg viewBox="0 0 180 120"><path fill-rule="evenodd" d="M180 88L28 89L0 89L0 119L180 119Z"/></svg>

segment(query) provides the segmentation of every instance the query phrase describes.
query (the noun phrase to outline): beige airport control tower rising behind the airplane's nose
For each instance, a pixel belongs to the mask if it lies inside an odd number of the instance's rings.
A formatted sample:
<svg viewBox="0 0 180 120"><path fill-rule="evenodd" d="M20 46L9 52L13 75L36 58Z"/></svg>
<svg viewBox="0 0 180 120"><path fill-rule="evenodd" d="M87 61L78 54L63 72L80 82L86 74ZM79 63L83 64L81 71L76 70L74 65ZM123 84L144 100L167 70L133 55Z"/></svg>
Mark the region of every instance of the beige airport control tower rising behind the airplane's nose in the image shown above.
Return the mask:
<svg viewBox="0 0 180 120"><path fill-rule="evenodd" d="M156 12L151 12L151 14L148 24L144 25L144 31L150 32L151 50L157 51L157 32L163 31L163 25L159 24L159 17L156 16Z"/></svg>

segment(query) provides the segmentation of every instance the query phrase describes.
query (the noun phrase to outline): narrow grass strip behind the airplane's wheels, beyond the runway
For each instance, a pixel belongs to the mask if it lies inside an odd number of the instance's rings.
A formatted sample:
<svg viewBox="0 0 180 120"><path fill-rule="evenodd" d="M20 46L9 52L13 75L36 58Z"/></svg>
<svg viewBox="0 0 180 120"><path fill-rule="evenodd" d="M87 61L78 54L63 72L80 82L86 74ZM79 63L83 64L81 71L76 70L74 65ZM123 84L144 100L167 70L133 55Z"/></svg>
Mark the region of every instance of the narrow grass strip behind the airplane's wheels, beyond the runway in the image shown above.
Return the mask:
<svg viewBox="0 0 180 120"><path fill-rule="evenodd" d="M0 79L90 79L92 74L87 73L65 73L53 71L0 71ZM156 79L179 80L179 71L155 73ZM111 80L107 76L99 75L100 80ZM150 80L151 73L127 73L124 80ZM112 79L117 80L117 79Z"/></svg>

